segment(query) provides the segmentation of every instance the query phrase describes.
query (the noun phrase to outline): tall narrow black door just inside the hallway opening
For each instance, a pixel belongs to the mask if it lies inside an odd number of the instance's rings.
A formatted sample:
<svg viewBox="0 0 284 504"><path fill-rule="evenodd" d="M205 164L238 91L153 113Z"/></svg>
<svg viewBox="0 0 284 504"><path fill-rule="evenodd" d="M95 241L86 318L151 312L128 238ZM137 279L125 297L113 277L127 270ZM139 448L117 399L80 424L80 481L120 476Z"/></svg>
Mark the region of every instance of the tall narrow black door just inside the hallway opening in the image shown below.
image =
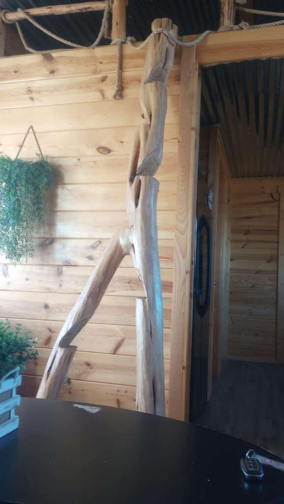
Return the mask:
<svg viewBox="0 0 284 504"><path fill-rule="evenodd" d="M194 261L190 420L204 412L208 389L208 347L212 267L211 203L206 173L198 171Z"/></svg>

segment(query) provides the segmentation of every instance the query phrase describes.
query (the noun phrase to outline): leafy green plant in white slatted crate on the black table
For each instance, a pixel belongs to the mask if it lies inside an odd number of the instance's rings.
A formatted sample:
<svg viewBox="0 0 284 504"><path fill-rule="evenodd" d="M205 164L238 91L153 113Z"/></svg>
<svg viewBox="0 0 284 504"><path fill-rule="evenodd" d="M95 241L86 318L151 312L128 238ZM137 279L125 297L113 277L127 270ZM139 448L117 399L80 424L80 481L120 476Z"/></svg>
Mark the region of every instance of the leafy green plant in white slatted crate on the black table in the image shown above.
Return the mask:
<svg viewBox="0 0 284 504"><path fill-rule="evenodd" d="M16 395L16 388L22 381L20 371L38 354L35 344L29 332L21 335L21 324L12 328L8 320L0 322L0 437L19 425L15 407L19 406L21 396Z"/></svg>

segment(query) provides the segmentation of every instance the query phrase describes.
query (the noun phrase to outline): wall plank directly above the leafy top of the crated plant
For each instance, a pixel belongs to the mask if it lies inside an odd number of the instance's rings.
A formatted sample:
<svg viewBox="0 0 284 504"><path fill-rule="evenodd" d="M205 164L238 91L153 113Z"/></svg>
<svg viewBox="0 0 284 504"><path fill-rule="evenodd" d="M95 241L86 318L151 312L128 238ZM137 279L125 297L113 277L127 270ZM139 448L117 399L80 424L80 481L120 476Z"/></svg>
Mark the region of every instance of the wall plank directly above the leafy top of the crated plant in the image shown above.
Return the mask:
<svg viewBox="0 0 284 504"><path fill-rule="evenodd" d="M8 319L65 322L77 298L77 294L0 291L1 316ZM104 296L91 322L135 326L135 305L136 301L133 297ZM163 299L164 327L168 329L171 328L171 314L171 299Z"/></svg>

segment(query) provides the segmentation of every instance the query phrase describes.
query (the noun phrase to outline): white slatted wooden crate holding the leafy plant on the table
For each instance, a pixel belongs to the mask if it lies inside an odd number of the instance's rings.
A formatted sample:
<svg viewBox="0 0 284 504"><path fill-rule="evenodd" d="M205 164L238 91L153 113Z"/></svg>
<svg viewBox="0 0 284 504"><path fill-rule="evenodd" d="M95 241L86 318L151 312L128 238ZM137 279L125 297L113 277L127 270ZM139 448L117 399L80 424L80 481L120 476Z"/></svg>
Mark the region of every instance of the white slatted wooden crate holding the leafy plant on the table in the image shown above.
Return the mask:
<svg viewBox="0 0 284 504"><path fill-rule="evenodd" d="M15 408L21 402L21 396L16 395L16 388L22 382L19 371L14 369L0 380L0 437L19 426L19 417L15 415Z"/></svg>

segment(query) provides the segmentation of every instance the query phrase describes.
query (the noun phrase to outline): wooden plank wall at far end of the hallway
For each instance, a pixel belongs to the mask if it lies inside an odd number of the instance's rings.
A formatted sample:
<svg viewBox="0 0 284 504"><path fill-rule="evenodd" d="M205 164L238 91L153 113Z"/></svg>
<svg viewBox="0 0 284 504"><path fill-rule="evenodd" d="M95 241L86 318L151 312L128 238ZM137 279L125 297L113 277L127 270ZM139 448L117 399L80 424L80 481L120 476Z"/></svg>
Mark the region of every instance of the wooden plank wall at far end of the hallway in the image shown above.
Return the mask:
<svg viewBox="0 0 284 504"><path fill-rule="evenodd" d="M233 180L228 354L275 361L279 179Z"/></svg>

